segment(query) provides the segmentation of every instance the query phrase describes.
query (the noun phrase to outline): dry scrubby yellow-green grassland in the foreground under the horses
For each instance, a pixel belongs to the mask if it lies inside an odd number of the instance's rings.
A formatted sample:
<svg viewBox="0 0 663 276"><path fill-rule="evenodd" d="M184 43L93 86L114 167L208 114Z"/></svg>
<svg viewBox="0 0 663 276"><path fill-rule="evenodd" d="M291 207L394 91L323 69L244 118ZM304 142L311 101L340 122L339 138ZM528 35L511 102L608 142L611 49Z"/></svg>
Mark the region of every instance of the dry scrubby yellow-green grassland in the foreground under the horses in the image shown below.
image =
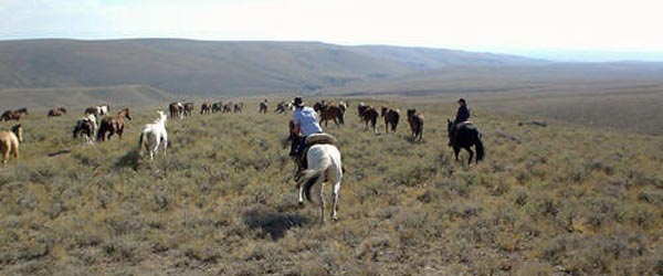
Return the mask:
<svg viewBox="0 0 663 276"><path fill-rule="evenodd" d="M136 145L151 110L93 147L71 138L74 115L28 116L21 160L0 170L0 274L663 273L660 137L480 112L487 159L467 168L445 147L452 107L417 106L422 144L403 121L364 131L355 108L329 126L348 172L340 220L324 226L316 206L296 205L281 147L290 117L169 120L168 156L150 164Z"/></svg>

